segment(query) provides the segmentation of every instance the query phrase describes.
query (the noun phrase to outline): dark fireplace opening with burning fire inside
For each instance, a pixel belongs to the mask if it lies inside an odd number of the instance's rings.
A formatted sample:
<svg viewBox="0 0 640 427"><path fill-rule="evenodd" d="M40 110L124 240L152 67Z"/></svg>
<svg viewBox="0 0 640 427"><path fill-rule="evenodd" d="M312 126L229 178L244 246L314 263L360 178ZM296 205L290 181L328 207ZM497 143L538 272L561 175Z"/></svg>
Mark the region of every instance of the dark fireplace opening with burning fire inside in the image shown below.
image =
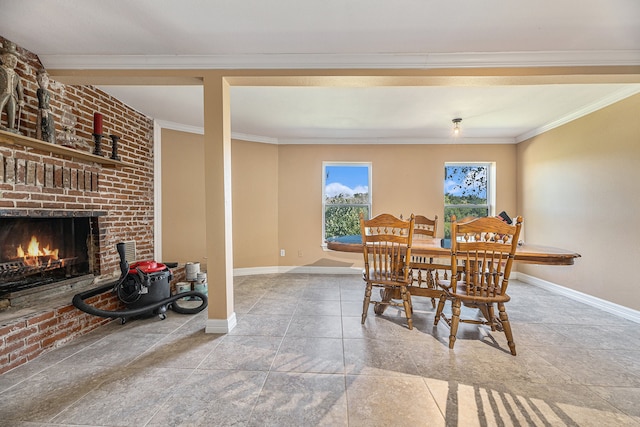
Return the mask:
<svg viewBox="0 0 640 427"><path fill-rule="evenodd" d="M0 218L0 297L94 273L92 220Z"/></svg>

